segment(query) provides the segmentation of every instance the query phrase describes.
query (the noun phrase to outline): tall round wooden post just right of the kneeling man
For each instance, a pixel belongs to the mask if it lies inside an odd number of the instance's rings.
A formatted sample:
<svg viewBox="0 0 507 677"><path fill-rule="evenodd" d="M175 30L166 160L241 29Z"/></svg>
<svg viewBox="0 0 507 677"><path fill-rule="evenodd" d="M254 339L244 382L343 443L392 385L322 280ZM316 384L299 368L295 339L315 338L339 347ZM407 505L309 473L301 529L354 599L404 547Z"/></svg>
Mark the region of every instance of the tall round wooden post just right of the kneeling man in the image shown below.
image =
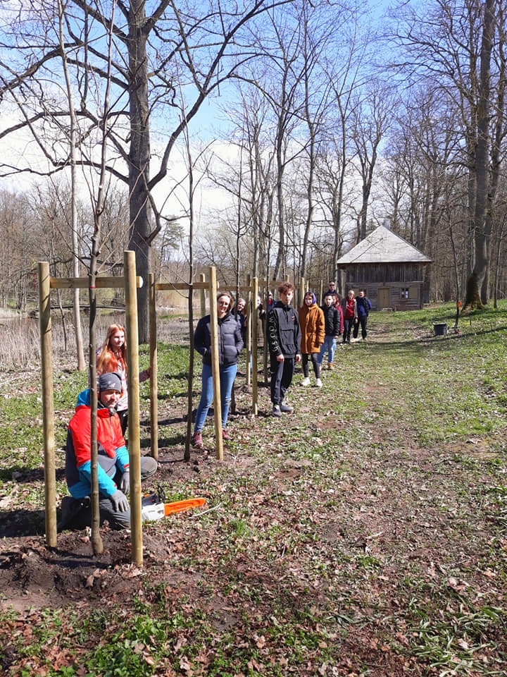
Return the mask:
<svg viewBox="0 0 507 677"><path fill-rule="evenodd" d="M123 253L125 270L125 329L127 330L128 449L130 463L130 530L132 563L142 566L141 439L139 434L139 333L137 331L137 290L135 253Z"/></svg>

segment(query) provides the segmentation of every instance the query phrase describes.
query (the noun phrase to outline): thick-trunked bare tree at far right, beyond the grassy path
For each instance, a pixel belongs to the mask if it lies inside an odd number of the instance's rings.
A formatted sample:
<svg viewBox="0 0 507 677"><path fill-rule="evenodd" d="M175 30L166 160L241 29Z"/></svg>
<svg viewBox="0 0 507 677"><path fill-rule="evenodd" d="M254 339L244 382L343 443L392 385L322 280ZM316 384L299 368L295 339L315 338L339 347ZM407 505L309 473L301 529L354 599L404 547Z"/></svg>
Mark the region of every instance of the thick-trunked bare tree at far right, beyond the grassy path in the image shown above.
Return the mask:
<svg viewBox="0 0 507 677"><path fill-rule="evenodd" d="M461 114L462 162L468 171L468 228L473 245L465 306L482 307L489 294L492 230L488 214L496 191L498 136L492 131L492 123L503 130L506 126L501 86L505 81L503 6L497 0L461 0L450 11L444 0L434 0L419 13L407 5L397 8L396 23L396 39L403 48L403 63L396 66L405 77L424 77L435 92L453 97Z"/></svg>

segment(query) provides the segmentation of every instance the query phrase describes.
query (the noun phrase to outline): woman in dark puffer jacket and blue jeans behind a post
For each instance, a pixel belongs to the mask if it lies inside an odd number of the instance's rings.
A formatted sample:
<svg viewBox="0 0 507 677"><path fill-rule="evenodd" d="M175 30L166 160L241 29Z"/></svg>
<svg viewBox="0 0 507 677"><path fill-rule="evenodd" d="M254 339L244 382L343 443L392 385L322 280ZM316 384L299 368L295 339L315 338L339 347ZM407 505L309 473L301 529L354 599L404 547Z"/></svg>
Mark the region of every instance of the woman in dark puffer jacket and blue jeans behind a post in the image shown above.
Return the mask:
<svg viewBox="0 0 507 677"><path fill-rule="evenodd" d="M232 295L220 291L217 295L218 314L218 362L220 376L220 402L222 404L222 437L231 439L227 432L227 417L232 386L237 372L239 353L243 350L241 328L231 313ZM213 376L211 374L211 316L201 317L194 332L194 348L203 358L201 399L196 411L194 446L203 448L202 431L213 403Z"/></svg>

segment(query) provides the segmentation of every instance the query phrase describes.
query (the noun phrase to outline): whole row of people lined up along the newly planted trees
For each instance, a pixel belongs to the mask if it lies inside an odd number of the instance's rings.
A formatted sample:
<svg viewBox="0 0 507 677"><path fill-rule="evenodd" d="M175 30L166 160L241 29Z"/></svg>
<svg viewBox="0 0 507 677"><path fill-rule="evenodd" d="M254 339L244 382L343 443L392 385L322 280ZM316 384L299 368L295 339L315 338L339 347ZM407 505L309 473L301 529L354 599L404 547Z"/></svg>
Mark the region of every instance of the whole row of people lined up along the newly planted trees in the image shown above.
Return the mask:
<svg viewBox="0 0 507 677"><path fill-rule="evenodd" d="M334 283L330 282L323 305L315 294L306 292L303 305L292 307L294 286L289 282L278 287L280 300L273 302L270 295L268 310L259 306L259 315L267 312L267 340L270 353L270 397L273 416L292 413L294 408L286 399L296 364L301 362L303 386L310 384L310 364L315 374L315 385L322 386L320 368L327 353L327 369L332 370L339 336L350 343L351 332L358 336L361 327L366 338L366 324L371 304L361 291L356 299L353 291L340 301ZM227 431L232 388L237 374L239 355L244 347L246 332L246 302L240 298L234 307L229 292L217 295L218 362L222 437L230 439ZM264 315L265 317L265 315ZM194 348L202 356L201 396L196 409L192 442L203 448L203 429L208 410L213 403L213 374L211 367L211 315L205 315L194 331ZM101 522L108 520L113 528L130 527L129 455L125 442L127 429L127 365L125 329L119 324L109 327L104 344L96 353L97 373L97 440L99 509ZM139 381L149 379L149 369L140 372ZM77 398L75 415L68 425L65 449L65 479L70 496L62 501L61 527L84 527L91 518L91 401L90 389ZM157 463L151 456L141 458L141 478L154 475Z"/></svg>

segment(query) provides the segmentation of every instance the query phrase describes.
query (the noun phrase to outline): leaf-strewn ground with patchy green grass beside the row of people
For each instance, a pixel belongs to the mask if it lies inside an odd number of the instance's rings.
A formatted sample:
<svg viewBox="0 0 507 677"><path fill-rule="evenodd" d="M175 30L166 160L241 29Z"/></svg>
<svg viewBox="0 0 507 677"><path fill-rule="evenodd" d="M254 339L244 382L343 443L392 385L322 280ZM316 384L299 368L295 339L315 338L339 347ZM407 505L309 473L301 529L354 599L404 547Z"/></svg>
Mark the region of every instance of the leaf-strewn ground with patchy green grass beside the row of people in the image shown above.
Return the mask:
<svg viewBox="0 0 507 677"><path fill-rule="evenodd" d="M0 450L0 672L505 674L507 398L494 379L507 330L396 323L372 316L322 389L301 387L298 368L281 420L261 372L252 415L242 365L223 461L212 418L206 449L183 460L187 379L162 370L159 467L143 488L206 505L145 523L142 566L130 532L107 525L99 556L87 530L47 547L42 464ZM22 385L0 375L5 399L40 387L36 368ZM63 462L58 450L64 493Z"/></svg>

